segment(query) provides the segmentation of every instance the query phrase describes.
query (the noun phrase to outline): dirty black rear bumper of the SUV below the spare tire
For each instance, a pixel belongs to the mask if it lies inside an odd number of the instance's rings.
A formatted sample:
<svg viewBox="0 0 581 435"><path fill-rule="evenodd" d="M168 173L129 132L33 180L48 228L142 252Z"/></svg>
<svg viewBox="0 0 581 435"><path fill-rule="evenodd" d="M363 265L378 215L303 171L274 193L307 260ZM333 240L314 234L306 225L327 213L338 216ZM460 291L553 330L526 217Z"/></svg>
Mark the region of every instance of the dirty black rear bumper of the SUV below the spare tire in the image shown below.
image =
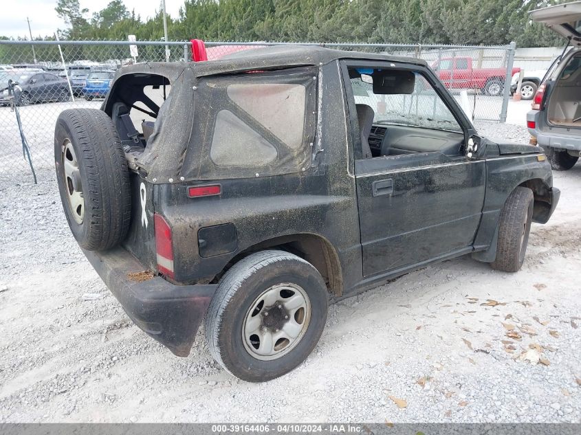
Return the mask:
<svg viewBox="0 0 581 435"><path fill-rule="evenodd" d="M159 276L137 282L144 271L122 247L85 256L131 320L175 355L187 357L217 285L173 285Z"/></svg>

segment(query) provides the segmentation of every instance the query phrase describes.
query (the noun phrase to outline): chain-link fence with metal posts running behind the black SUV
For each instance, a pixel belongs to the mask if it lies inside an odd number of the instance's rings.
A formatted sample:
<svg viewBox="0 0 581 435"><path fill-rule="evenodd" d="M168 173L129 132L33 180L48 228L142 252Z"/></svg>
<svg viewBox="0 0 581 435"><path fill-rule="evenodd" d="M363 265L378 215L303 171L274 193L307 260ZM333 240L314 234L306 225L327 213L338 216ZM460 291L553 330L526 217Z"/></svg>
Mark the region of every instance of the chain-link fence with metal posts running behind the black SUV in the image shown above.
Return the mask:
<svg viewBox="0 0 581 435"><path fill-rule="evenodd" d="M277 43L207 42L206 48L208 60L213 60L265 45ZM506 119L514 45L309 45L422 58L470 118ZM52 168L54 125L61 111L98 109L119 68L178 60L191 60L190 42L34 41L32 45L30 41L0 41L0 186L19 182L30 173L14 110L20 113L34 168ZM19 82L14 95L6 89L9 79Z"/></svg>

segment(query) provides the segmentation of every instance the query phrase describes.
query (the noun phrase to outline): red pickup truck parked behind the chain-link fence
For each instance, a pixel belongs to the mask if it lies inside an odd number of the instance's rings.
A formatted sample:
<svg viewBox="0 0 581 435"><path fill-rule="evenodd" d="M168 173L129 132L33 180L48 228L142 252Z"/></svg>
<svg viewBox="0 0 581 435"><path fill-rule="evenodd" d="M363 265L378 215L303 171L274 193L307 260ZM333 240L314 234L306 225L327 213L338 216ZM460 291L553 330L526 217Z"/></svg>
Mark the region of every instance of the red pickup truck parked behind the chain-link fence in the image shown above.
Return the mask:
<svg viewBox="0 0 581 435"><path fill-rule="evenodd" d="M457 56L441 58L432 69L448 89L480 89L493 97L503 94L506 68L473 68L472 58ZM518 72L520 68L513 68L510 77Z"/></svg>

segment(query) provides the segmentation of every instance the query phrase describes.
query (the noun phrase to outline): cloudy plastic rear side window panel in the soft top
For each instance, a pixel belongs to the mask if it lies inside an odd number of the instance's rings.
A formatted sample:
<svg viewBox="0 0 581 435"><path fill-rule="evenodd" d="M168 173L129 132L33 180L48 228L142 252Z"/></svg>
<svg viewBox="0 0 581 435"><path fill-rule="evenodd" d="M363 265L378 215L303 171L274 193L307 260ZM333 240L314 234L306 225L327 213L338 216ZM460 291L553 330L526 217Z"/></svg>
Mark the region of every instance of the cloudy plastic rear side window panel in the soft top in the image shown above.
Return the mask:
<svg viewBox="0 0 581 435"><path fill-rule="evenodd" d="M302 171L314 141L316 78L316 68L298 68L201 79L184 175L229 179Z"/></svg>

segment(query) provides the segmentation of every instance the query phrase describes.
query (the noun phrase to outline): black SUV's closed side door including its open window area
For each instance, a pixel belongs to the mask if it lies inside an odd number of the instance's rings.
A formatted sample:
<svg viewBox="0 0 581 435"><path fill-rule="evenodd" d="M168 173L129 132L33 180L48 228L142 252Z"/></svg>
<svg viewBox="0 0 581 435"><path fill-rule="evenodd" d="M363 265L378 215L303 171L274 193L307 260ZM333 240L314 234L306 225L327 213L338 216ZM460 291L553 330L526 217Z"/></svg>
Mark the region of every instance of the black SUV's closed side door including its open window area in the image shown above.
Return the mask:
<svg viewBox="0 0 581 435"><path fill-rule="evenodd" d="M377 80L397 85L397 78L389 77L397 70L413 74L415 85L411 92L385 89L385 95L374 84L364 102L375 112L368 141L373 157L362 158L354 140L366 278L470 252L485 192L485 161L465 157L472 127L450 94L432 87L435 81L427 69L389 65L373 65L374 83L377 75ZM369 65L364 66L369 74ZM353 67L345 67L344 80L356 82ZM346 83L349 111L358 111L361 97L350 96L350 88ZM385 111L373 107L373 100L385 100ZM365 126L352 127L358 131L353 137L361 137Z"/></svg>

